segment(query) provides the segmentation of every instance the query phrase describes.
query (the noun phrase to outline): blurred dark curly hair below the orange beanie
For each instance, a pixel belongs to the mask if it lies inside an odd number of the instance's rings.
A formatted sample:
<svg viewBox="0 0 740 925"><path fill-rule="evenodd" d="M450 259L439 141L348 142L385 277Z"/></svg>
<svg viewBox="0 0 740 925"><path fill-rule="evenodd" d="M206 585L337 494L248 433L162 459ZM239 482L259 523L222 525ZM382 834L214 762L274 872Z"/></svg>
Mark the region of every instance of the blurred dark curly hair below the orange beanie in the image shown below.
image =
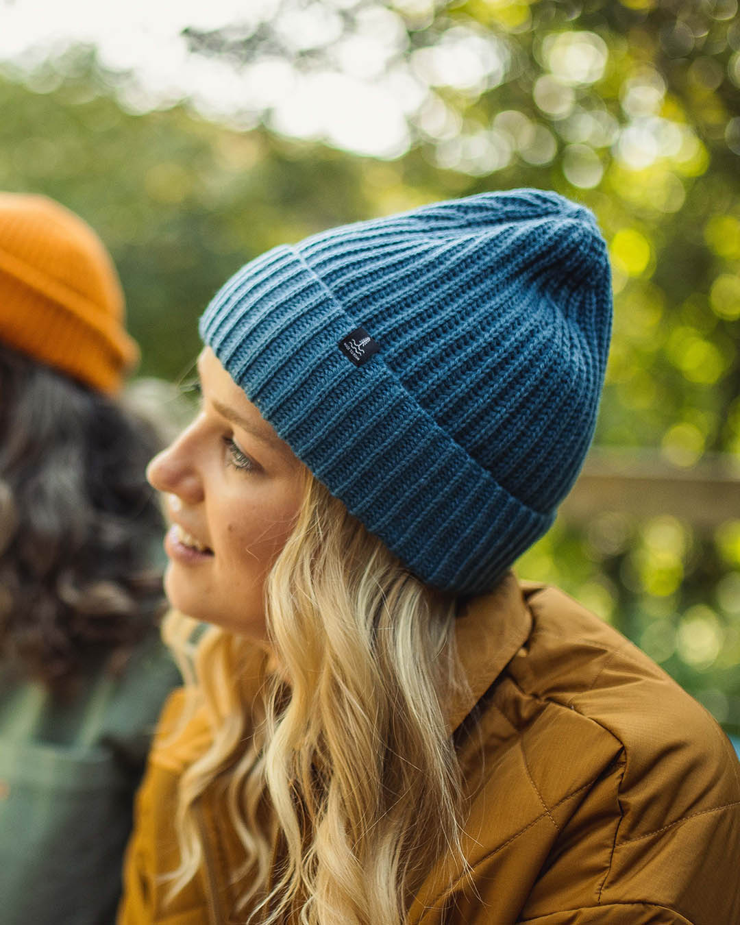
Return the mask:
<svg viewBox="0 0 740 925"><path fill-rule="evenodd" d="M161 612L151 424L0 344L0 658L62 690Z"/></svg>

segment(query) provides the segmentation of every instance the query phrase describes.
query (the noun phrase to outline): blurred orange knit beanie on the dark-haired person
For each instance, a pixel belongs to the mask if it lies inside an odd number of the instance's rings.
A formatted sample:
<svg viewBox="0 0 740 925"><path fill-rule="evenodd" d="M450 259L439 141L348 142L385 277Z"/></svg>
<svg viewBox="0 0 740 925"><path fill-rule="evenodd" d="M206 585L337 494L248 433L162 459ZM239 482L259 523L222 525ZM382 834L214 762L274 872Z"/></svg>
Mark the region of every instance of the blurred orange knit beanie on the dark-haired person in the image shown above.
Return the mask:
<svg viewBox="0 0 740 925"><path fill-rule="evenodd" d="M92 228L45 196L0 192L0 340L113 393L139 351Z"/></svg>

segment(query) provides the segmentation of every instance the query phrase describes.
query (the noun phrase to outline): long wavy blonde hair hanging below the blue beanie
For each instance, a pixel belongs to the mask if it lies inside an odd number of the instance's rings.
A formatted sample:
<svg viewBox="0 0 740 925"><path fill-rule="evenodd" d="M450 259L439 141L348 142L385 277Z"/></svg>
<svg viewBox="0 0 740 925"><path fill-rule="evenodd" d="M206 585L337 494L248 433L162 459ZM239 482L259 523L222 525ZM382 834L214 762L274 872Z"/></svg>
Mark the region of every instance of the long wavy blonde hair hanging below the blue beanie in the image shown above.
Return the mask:
<svg viewBox="0 0 740 925"><path fill-rule="evenodd" d="M193 804L216 776L246 861L245 922L398 925L441 857L464 869L462 782L445 719L464 686L457 601L403 567L312 475L265 582L279 671L245 702L255 645L172 613L165 637L186 677L183 725L214 730L183 773L176 894L203 862ZM290 679L290 684L286 682ZM182 728L182 727L180 727ZM272 870L275 845L284 859Z"/></svg>

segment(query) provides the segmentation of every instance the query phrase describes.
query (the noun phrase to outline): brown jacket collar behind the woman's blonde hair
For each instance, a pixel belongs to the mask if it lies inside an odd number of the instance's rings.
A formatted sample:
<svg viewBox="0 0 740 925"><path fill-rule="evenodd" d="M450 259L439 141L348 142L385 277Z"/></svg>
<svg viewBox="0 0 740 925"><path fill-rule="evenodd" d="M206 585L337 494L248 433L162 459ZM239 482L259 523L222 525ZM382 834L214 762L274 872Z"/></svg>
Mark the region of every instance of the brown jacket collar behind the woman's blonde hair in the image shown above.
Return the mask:
<svg viewBox="0 0 740 925"><path fill-rule="evenodd" d="M467 690L450 697L447 709L450 734L522 648L531 630L532 615L512 572L504 575L495 590L467 602L457 618L455 631Z"/></svg>

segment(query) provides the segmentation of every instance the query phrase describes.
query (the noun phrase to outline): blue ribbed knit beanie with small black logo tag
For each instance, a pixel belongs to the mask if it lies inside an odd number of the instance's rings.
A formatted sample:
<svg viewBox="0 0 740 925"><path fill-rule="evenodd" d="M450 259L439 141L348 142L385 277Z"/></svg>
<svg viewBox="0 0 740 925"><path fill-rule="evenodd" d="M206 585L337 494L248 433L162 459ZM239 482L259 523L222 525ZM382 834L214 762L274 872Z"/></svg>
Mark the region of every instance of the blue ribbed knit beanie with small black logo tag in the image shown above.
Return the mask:
<svg viewBox="0 0 740 925"><path fill-rule="evenodd" d="M426 583L470 594L548 530L573 485L610 330L594 216L538 190L276 247L200 323L332 494Z"/></svg>

